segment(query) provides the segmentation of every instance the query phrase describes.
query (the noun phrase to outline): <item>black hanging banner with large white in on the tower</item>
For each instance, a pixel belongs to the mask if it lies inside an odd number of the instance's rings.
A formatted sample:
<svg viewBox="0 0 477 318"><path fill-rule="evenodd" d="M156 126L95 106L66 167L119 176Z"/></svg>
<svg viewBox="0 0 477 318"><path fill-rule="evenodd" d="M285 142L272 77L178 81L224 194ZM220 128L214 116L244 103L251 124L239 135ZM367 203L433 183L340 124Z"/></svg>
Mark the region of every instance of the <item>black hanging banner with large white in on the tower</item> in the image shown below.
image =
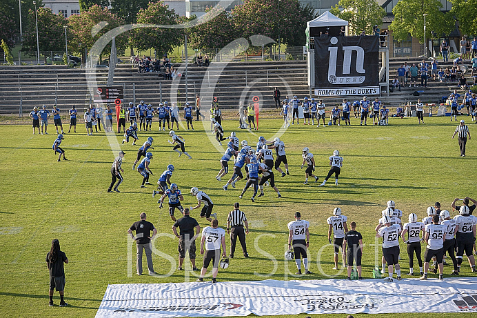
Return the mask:
<svg viewBox="0 0 477 318"><path fill-rule="evenodd" d="M379 37L315 37L315 95L379 94Z"/></svg>

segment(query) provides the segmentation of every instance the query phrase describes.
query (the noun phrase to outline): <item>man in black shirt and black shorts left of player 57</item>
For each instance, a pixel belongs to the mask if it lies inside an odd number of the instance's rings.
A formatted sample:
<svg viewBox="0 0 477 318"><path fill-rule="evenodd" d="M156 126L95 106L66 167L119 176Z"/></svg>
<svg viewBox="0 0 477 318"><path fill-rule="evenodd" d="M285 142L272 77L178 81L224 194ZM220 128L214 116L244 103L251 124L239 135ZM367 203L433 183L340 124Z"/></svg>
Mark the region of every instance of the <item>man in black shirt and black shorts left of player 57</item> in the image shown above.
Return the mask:
<svg viewBox="0 0 477 318"><path fill-rule="evenodd" d="M192 270L199 270L196 268L196 238L199 237L201 232L201 226L197 223L196 219L190 217L190 211L188 208L184 209L184 217L178 219L172 226L174 235L179 238L179 268L182 270L182 264L185 259L185 252L189 251L190 262L192 263ZM181 230L181 235L177 234L177 228ZM194 228L196 229L196 235L194 236Z"/></svg>

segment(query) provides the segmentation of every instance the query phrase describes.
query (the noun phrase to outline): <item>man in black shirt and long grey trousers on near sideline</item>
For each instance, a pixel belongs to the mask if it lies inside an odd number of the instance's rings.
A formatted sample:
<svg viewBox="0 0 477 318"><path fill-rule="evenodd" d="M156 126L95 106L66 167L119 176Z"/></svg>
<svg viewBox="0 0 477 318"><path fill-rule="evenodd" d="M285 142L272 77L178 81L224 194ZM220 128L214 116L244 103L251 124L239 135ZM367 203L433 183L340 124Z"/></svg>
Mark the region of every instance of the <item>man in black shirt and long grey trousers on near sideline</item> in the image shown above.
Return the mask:
<svg viewBox="0 0 477 318"><path fill-rule="evenodd" d="M145 220L145 213L139 215L141 221L134 222L132 226L128 229L129 235L136 241L137 245L137 260L136 260L136 269L137 275L143 275L143 249L145 250L145 256L148 260L148 270L149 275L155 275L154 268L152 267L152 246L151 240L157 234L156 228L152 225L151 222ZM132 235L132 231L136 231L136 237ZM152 236L151 235L152 232Z"/></svg>

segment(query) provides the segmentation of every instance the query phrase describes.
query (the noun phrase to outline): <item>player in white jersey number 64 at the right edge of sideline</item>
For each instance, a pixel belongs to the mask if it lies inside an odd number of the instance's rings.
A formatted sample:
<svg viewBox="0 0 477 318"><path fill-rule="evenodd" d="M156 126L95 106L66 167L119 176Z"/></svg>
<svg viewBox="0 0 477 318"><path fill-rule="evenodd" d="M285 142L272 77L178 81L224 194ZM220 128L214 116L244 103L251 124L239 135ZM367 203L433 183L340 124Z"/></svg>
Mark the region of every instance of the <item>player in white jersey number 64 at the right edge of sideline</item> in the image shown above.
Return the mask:
<svg viewBox="0 0 477 318"><path fill-rule="evenodd" d="M456 220L457 269L460 271L465 252L472 272L477 272L476 262L472 254L472 246L476 241L477 217L469 213L468 206L461 206L459 215L454 217L454 220Z"/></svg>

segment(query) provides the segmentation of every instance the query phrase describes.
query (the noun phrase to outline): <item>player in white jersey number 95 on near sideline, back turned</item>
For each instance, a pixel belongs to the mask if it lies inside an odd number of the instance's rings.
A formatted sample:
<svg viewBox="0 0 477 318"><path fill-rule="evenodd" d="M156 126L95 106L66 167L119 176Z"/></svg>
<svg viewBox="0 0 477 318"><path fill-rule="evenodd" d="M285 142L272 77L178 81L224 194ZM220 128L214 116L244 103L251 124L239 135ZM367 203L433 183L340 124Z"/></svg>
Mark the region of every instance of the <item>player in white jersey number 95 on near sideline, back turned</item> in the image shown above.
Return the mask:
<svg viewBox="0 0 477 318"><path fill-rule="evenodd" d="M432 257L436 257L439 266L439 279L443 279L443 257L444 257L444 241L447 234L447 226L439 224L439 216L432 217L432 224L425 227L424 241L427 242L426 251L424 253L424 275L420 279L427 279L427 271L429 270L429 261Z"/></svg>

